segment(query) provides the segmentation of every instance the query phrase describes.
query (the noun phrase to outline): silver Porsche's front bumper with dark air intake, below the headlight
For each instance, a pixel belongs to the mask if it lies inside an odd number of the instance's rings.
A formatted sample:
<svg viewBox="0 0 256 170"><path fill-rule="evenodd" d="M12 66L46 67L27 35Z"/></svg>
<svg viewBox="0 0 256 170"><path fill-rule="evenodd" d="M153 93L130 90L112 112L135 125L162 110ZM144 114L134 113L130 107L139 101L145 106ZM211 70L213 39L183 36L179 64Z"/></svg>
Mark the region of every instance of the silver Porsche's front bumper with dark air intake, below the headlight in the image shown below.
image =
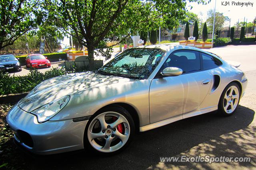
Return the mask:
<svg viewBox="0 0 256 170"><path fill-rule="evenodd" d="M84 149L86 121L72 119L38 123L35 115L14 105L6 116L14 140L36 154L56 154Z"/></svg>

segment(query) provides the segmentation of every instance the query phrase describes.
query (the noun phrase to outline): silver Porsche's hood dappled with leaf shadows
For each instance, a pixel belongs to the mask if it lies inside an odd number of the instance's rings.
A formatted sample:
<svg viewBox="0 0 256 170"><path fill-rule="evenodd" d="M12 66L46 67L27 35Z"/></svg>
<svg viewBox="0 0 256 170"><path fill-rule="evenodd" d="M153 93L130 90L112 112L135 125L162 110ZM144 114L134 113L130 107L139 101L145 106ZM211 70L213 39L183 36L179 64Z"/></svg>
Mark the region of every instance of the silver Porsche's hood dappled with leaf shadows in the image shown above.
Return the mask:
<svg viewBox="0 0 256 170"><path fill-rule="evenodd" d="M31 112L44 104L57 100L63 96L119 82L131 81L129 78L106 76L94 72L67 74L46 80L36 86L25 98L20 100L19 107Z"/></svg>

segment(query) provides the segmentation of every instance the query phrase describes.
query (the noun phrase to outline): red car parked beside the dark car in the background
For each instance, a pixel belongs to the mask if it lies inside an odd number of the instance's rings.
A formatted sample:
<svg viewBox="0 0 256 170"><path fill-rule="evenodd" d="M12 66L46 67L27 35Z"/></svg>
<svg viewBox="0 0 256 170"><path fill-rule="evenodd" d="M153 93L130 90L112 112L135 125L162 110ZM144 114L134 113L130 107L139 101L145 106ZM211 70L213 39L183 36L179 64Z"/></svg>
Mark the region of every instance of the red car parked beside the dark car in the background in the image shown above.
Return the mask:
<svg viewBox="0 0 256 170"><path fill-rule="evenodd" d="M41 54L31 54L26 57L26 66L33 68L50 67L51 63Z"/></svg>

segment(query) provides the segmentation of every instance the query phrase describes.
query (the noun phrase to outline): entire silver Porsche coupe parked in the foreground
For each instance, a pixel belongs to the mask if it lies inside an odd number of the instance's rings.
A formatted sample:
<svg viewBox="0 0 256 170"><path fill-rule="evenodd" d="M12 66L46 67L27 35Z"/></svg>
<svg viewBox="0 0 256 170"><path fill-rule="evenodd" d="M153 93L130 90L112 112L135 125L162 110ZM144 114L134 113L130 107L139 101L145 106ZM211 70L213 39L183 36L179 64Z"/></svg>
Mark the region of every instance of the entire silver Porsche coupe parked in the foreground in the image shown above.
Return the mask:
<svg viewBox="0 0 256 170"><path fill-rule="evenodd" d="M42 82L6 121L16 143L36 154L114 154L136 131L214 110L232 115L247 85L236 67L194 47L136 47L96 71Z"/></svg>

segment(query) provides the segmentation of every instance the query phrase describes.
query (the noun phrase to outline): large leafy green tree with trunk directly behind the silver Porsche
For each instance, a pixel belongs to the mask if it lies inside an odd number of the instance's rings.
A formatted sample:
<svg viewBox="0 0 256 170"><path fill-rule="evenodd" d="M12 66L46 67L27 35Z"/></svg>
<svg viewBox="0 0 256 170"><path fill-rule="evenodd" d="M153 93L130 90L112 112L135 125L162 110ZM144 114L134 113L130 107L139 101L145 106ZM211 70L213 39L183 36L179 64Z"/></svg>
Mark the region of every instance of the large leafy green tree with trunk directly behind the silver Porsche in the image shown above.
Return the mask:
<svg viewBox="0 0 256 170"><path fill-rule="evenodd" d="M190 0L202 2L204 0ZM90 69L95 47L110 35L126 35L156 29L166 20L180 20L186 12L184 0L45 0L52 22L88 49ZM134 10L136 9L136 10ZM74 33L71 33L72 29ZM123 38L125 39L125 37Z"/></svg>

